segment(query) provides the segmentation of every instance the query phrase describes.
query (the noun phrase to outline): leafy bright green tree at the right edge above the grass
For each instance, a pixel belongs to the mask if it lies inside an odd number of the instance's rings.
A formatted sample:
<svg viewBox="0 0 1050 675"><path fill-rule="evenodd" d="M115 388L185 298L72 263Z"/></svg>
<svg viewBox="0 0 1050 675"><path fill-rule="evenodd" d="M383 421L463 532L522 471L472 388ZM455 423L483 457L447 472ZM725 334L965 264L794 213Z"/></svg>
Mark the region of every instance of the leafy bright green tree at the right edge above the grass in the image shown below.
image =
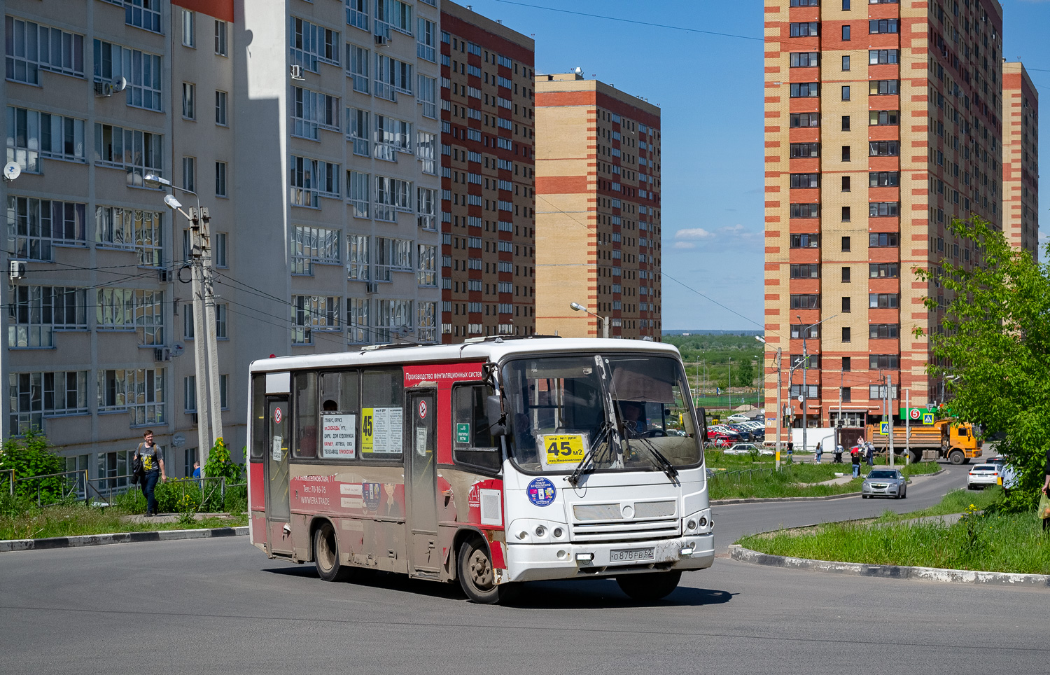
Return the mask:
<svg viewBox="0 0 1050 675"><path fill-rule="evenodd" d="M939 330L928 336L934 359L927 370L946 379L956 416L1005 433L999 449L1020 481L1004 506L1029 509L1050 448L1050 267L1013 249L980 218L953 219L948 229L964 247L971 245L975 259L971 270L948 259L942 269L916 270L953 293ZM932 294L925 302L938 310Z"/></svg>

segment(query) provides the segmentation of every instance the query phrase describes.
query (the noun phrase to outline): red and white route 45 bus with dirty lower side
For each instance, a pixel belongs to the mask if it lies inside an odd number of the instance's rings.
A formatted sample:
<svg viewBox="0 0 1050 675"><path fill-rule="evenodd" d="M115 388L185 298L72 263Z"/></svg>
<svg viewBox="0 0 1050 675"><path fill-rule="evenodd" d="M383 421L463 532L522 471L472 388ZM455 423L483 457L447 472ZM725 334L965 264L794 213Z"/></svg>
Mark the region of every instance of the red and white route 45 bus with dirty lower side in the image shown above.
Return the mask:
<svg viewBox="0 0 1050 675"><path fill-rule="evenodd" d="M655 599L714 561L706 425L671 345L479 338L251 364L251 542L459 582L613 577Z"/></svg>

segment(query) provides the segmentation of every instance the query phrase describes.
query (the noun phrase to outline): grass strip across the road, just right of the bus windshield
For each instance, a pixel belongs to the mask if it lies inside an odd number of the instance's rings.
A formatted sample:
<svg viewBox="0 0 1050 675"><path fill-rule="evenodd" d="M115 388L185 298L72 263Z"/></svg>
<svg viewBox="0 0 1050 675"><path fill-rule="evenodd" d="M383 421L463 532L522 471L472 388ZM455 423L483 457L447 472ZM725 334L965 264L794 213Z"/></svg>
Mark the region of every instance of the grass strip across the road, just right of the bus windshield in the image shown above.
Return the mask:
<svg viewBox="0 0 1050 675"><path fill-rule="evenodd" d="M810 464L780 462L780 472L775 470L776 461L772 457L760 457L752 461L748 456L722 455L707 450L708 467L718 472L710 482L710 498L724 499L769 499L774 497L828 497L859 492L863 479L854 479L840 485L812 485L837 478L836 473L849 476L849 464ZM876 466L883 464L876 461ZM897 467L905 476L932 473L940 467L936 462L923 462ZM867 465L861 466L861 476L867 472Z"/></svg>

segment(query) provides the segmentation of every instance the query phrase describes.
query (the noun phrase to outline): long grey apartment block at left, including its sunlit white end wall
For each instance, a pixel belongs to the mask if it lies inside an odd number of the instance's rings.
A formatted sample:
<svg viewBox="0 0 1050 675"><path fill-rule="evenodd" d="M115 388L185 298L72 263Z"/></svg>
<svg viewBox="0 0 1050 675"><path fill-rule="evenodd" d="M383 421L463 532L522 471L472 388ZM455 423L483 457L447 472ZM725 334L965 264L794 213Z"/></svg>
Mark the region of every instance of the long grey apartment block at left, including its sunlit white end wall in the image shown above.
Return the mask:
<svg viewBox="0 0 1050 675"><path fill-rule="evenodd" d="M210 212L235 453L250 360L439 340L437 0L234 4L4 5L23 172L0 199L26 272L0 434L41 428L92 479L127 473L147 427L171 474L198 450L192 241L148 173Z"/></svg>

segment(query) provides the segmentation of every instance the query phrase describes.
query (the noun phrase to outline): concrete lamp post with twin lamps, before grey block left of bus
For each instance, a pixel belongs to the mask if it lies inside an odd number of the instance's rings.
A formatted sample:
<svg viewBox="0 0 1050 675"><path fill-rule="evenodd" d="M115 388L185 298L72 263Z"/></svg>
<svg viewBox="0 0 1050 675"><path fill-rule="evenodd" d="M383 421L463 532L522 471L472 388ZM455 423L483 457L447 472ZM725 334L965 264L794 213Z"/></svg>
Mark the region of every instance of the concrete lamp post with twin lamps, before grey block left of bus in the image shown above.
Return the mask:
<svg viewBox="0 0 1050 675"><path fill-rule="evenodd" d="M181 188L167 178L147 173L143 182L151 187L167 187L186 194L192 194L197 207L190 213L182 210L182 205L173 194L164 197L164 203L178 211L191 223L193 235L190 256L193 293L193 356L194 384L196 385L197 443L200 444L201 466L208 462L208 451L214 442L223 437L222 401L219 399L218 344L215 335L215 293L212 287L212 258L208 233L210 217L201 208L201 197L193 190ZM209 419L210 418L210 419ZM209 424L210 422L210 424ZM209 438L209 429L211 435Z"/></svg>

